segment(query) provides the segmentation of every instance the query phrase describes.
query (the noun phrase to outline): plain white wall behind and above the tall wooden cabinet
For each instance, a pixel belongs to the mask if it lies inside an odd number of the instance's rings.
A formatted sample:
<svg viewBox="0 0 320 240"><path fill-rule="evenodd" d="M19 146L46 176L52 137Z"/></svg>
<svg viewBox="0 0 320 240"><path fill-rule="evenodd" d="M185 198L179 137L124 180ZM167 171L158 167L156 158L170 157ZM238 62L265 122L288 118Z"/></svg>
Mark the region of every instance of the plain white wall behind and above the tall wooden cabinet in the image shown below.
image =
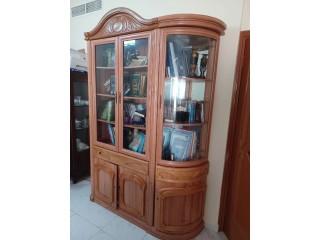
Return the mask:
<svg viewBox="0 0 320 240"><path fill-rule="evenodd" d="M225 36L221 37L219 62L214 99L214 110L209 146L209 175L207 184L207 197L204 221L206 227L218 230L219 204L221 184L225 160L226 141L230 114L230 103L234 80L239 32L243 6L248 28L249 0L103 0L103 10L70 19L71 43L73 49L86 49L84 32L91 31L101 17L115 7L127 7L137 12L143 18L152 18L175 13L198 13L213 16L224 21L227 25ZM71 7L80 5L85 0L70 0Z"/></svg>

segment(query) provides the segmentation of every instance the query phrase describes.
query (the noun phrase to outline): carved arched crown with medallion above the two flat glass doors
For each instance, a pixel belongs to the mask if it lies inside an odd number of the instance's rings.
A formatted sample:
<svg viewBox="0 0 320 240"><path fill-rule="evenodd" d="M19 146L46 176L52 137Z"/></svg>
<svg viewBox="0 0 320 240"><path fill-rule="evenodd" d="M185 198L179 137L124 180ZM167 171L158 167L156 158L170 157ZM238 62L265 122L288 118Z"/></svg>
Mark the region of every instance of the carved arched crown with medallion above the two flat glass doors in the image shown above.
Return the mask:
<svg viewBox="0 0 320 240"><path fill-rule="evenodd" d="M86 32L85 39L101 39L125 33L152 30L158 25L158 19L144 19L127 8L115 8L107 12L91 31Z"/></svg>

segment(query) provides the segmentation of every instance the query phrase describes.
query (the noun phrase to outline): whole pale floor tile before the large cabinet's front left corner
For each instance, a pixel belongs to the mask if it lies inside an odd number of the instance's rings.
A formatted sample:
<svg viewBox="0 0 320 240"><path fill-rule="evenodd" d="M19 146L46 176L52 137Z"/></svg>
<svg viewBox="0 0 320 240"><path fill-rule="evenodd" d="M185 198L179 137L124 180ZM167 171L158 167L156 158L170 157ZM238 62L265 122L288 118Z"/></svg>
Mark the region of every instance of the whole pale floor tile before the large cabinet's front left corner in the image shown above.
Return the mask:
<svg viewBox="0 0 320 240"><path fill-rule="evenodd" d="M78 212L78 215L88 220L98 228L105 227L117 216L96 203L87 205Z"/></svg>

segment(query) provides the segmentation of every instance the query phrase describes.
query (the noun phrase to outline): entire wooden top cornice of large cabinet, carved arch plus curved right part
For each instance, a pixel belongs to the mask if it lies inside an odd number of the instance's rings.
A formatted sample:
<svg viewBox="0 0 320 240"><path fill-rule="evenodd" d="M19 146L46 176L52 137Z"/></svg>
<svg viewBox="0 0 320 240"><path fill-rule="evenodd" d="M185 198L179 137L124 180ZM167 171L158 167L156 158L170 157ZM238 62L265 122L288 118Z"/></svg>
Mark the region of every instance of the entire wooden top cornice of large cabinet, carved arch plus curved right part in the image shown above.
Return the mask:
<svg viewBox="0 0 320 240"><path fill-rule="evenodd" d="M217 18L198 14L172 14L144 19L128 8L115 8L107 12L92 31L85 32L84 35L85 40L94 40L167 27L197 27L224 35L226 24Z"/></svg>

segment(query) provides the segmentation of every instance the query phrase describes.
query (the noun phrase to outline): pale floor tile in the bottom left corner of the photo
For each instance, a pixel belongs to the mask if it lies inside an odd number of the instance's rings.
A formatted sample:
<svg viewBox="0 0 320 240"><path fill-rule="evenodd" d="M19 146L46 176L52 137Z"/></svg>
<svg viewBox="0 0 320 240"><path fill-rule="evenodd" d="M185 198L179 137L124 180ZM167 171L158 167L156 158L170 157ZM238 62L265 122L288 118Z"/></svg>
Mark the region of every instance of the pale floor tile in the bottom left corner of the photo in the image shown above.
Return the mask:
<svg viewBox="0 0 320 240"><path fill-rule="evenodd" d="M92 238L99 228L83 219L77 214L71 217L70 224L70 240L89 240Z"/></svg>

